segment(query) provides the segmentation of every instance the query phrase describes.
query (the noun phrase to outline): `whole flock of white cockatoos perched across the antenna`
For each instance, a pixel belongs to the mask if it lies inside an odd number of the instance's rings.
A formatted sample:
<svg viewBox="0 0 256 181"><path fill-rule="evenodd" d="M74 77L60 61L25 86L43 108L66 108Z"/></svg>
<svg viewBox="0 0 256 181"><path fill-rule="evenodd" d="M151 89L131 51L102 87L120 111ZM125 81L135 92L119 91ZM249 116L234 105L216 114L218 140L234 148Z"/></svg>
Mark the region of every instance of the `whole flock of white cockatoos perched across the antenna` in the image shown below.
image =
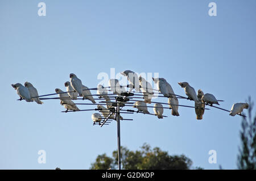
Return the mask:
<svg viewBox="0 0 256 181"><path fill-rule="evenodd" d="M151 104L151 99L154 97L154 89L152 89L152 85L150 82L147 82L146 79L134 73L131 70L125 70L121 73L125 77L127 77L129 81L129 91L139 91L143 94L143 100L136 101L133 105L134 108L137 108L138 111L143 112L145 114L149 114L147 110L147 104ZM77 76L73 73L69 74L70 82L67 81L64 83L66 87L66 92L62 91L61 89L55 89L56 94L59 95L60 103L64 106L65 109L73 110L73 111L80 111L79 108L72 100L77 100L77 96L81 96L82 99L88 99L93 104L96 104L92 93L88 89L88 87L82 85L82 81L77 78ZM171 114L173 116L179 116L178 108L179 108L179 95L174 93L171 85L166 81L164 78L152 78L154 83L158 87L158 91L163 94L164 97L168 98L168 105L172 110ZM205 105L213 106L213 104L220 105L218 102L221 100L217 100L214 95L212 94L204 94L204 92L199 89L196 91L193 89L192 86L189 85L188 82L179 82L178 83L181 87L184 88L185 94L188 96L187 99L193 100L195 102L195 112L196 112L196 119L201 120L203 119ZM11 85L17 91L18 95L20 96L19 100L26 100L27 102L36 102L38 104L43 104L40 100L40 96L38 95L38 91L30 82L25 82L24 86L20 83L16 83L15 85ZM102 106L101 104L97 104L97 108L100 110L100 113L93 113L92 120L94 123L99 123L103 117L109 117L110 119L114 119L114 114L110 111L112 108L111 98L109 97L108 91L112 91L112 95L122 96L122 92L127 92L125 89L126 86L119 85L118 79L109 79L109 87L104 87L102 85L97 86L97 96L99 98L105 99L106 107ZM110 88L108 90L107 88ZM178 96L178 98L177 98ZM249 104L247 103L234 103L229 115L241 115L243 109L247 109ZM163 118L163 105L161 103L155 103L154 107L154 114L159 118ZM122 117L120 116L122 119Z"/></svg>

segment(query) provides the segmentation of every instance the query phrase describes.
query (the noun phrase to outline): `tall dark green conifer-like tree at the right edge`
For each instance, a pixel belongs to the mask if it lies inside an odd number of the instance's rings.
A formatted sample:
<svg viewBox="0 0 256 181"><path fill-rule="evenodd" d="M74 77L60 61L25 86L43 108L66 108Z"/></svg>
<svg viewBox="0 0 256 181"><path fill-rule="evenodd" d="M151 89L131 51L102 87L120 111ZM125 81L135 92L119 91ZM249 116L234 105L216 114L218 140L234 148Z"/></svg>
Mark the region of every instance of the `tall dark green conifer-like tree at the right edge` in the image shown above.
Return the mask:
<svg viewBox="0 0 256 181"><path fill-rule="evenodd" d="M256 169L256 116L251 117L254 103L249 97L249 108L247 117L242 119L242 130L240 131L241 148L239 148L238 169Z"/></svg>

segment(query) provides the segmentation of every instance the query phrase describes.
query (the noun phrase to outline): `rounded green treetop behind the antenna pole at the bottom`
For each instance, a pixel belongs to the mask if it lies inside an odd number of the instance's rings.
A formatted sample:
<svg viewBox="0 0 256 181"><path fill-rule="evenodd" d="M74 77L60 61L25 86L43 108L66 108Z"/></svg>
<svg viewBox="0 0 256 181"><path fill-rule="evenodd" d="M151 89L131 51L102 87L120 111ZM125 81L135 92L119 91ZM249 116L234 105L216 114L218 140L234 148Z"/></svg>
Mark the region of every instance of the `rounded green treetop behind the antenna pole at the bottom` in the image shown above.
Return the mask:
<svg viewBox="0 0 256 181"><path fill-rule="evenodd" d="M144 169L190 169L191 159L185 155L168 155L167 151L162 151L156 147L151 149L150 145L143 144L141 150L131 151L121 147L122 169L144 170ZM92 163L90 169L117 169L117 150L113 151L112 158L106 154L98 155L96 162ZM198 167L202 169L201 167Z"/></svg>

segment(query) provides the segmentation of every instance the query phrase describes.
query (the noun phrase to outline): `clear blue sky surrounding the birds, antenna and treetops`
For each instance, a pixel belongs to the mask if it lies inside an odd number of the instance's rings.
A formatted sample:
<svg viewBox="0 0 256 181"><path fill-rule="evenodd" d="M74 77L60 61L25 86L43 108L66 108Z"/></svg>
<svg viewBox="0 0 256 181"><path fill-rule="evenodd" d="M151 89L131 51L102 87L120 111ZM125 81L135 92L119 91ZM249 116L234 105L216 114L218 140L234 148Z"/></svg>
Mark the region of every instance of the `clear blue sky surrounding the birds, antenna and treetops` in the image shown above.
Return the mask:
<svg viewBox="0 0 256 181"><path fill-rule="evenodd" d="M38 16L39 2L46 16ZM210 2L217 16L208 15ZM51 94L65 90L69 73L96 87L97 75L115 68L159 73L179 95L177 82L189 82L225 100L226 109L249 95L255 102L255 7L254 0L1 1L0 169L89 169L98 154L117 149L114 122L93 127L93 112L61 113L59 100L18 102L12 83L28 81L40 95ZM136 150L147 142L185 154L193 166L237 168L240 116L210 108L197 121L191 108L180 107L179 117L170 112L163 120L123 115L134 120L121 122L121 145ZM39 150L46 150L46 164L38 163ZM209 150L217 151L217 164L208 162Z"/></svg>

